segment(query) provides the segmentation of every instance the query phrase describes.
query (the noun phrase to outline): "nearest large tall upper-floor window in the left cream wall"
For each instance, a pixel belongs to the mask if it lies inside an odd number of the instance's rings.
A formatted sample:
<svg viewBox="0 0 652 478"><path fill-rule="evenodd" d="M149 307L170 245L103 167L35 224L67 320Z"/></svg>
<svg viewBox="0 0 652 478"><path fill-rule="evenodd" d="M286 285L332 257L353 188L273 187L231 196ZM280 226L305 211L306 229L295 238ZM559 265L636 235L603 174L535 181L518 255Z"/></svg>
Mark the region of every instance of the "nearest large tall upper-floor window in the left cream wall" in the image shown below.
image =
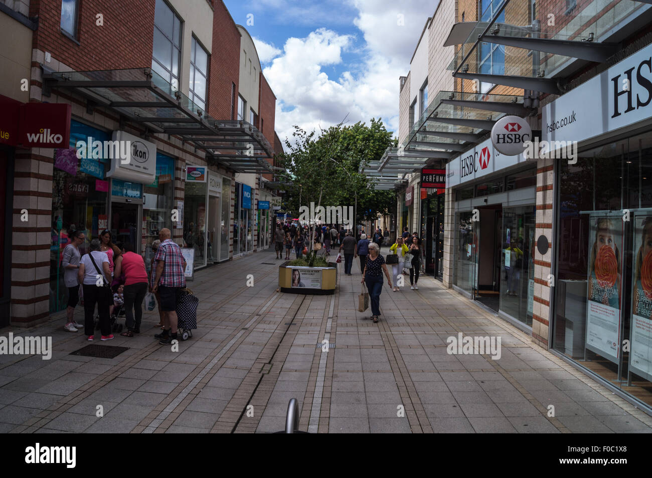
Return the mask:
<svg viewBox="0 0 652 478"><path fill-rule="evenodd" d="M156 0L152 69L179 89L181 19L163 0Z"/></svg>

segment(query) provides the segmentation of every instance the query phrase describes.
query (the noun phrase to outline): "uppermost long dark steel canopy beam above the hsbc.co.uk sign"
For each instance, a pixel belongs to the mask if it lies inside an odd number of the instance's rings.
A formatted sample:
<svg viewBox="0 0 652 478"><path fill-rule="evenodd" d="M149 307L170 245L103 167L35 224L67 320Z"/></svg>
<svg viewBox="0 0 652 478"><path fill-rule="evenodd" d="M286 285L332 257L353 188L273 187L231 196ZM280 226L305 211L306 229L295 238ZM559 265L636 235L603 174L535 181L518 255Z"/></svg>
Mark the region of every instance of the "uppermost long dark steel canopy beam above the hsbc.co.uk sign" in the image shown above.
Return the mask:
<svg viewBox="0 0 652 478"><path fill-rule="evenodd" d="M650 0L652 1L652 0ZM504 37L503 35L484 35L483 42L499 45L516 46L534 52L553 53L582 60L602 63L618 51L615 43L578 42L572 40L555 40L554 38Z"/></svg>

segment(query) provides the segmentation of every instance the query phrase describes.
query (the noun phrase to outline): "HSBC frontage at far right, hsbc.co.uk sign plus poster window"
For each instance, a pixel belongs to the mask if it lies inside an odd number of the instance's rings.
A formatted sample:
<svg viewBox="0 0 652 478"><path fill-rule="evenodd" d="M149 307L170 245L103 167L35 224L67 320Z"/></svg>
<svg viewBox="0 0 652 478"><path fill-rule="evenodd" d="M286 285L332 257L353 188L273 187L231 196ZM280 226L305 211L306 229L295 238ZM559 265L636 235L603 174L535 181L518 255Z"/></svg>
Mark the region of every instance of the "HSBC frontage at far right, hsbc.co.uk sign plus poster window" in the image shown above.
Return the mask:
<svg viewBox="0 0 652 478"><path fill-rule="evenodd" d="M647 46L546 105L542 117L543 139L579 143L576 161L556 161L552 350L648 410L651 57Z"/></svg>

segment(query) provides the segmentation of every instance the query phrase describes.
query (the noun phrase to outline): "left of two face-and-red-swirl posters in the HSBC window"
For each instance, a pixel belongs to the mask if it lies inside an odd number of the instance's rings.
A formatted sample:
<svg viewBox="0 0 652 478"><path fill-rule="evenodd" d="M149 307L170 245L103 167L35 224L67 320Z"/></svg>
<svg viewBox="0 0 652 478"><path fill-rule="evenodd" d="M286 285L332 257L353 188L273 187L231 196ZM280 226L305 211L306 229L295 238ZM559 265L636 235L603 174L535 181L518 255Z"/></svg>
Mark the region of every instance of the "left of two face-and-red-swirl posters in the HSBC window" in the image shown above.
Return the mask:
<svg viewBox="0 0 652 478"><path fill-rule="evenodd" d="M586 347L605 359L619 357L621 248L620 218L591 217L589 280L587 290Z"/></svg>

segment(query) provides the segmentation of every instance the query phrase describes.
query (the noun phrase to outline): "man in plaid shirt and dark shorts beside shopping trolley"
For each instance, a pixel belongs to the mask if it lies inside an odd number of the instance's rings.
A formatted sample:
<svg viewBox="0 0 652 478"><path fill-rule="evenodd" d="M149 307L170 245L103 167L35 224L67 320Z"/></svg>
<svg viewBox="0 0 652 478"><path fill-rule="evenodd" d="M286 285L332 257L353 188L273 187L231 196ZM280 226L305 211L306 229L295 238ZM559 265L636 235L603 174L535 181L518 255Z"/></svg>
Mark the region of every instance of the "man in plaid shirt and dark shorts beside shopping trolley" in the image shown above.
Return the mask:
<svg viewBox="0 0 652 478"><path fill-rule="evenodd" d="M158 233L161 243L156 250L154 261L156 263L156 276L152 291L160 297L160 306L163 311L163 333L156 334L159 344L171 344L177 338L177 297L179 291L186 286L186 260L181 254L181 248L170 239L170 230L163 228Z"/></svg>

